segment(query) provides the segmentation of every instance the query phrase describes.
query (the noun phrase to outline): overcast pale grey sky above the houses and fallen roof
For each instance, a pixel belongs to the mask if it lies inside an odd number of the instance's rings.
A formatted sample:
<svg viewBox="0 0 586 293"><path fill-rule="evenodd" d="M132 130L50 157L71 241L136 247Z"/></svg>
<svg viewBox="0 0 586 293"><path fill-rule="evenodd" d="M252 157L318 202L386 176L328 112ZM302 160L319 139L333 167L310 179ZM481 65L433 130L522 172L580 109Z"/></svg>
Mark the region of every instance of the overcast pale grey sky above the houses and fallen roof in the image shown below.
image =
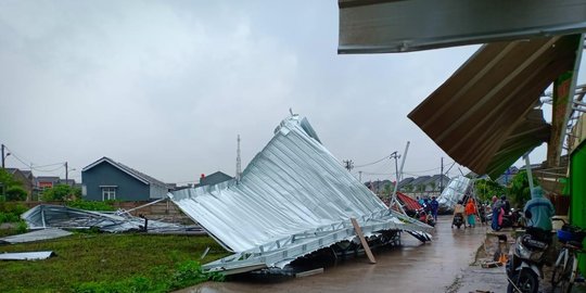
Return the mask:
<svg viewBox="0 0 586 293"><path fill-rule="evenodd" d="M477 46L337 55L337 12L333 0L0 1L7 165L67 161L79 180L109 156L166 182L233 175L237 135L245 166L292 107L341 161L410 141L405 170L437 174L453 160L407 114ZM360 170L393 179L394 163Z"/></svg>

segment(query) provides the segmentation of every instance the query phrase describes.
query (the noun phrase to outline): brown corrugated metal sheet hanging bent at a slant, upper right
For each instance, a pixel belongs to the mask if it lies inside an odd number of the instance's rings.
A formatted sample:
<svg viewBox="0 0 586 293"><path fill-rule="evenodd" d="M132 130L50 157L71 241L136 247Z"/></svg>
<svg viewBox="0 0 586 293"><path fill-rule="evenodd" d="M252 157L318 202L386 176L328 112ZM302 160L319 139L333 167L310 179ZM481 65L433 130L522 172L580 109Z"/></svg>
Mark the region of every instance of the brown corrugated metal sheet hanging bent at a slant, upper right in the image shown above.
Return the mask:
<svg viewBox="0 0 586 293"><path fill-rule="evenodd" d="M572 71L579 35L483 46L408 117L449 156L496 178L547 141L534 109L544 90Z"/></svg>

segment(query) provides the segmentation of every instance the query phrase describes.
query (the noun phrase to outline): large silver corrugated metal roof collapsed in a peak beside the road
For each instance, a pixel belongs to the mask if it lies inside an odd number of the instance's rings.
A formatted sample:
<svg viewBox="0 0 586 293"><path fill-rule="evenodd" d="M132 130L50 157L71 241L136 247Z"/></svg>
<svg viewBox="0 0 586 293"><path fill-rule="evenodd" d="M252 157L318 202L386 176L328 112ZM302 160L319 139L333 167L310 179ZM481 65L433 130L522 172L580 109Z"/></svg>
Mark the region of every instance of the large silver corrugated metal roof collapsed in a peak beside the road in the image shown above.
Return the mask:
<svg viewBox="0 0 586 293"><path fill-rule="evenodd" d="M292 115L242 173L240 181L175 191L189 217L234 255L204 265L234 273L284 267L297 257L353 240L356 218L367 235L432 228L388 209L320 143L306 118Z"/></svg>

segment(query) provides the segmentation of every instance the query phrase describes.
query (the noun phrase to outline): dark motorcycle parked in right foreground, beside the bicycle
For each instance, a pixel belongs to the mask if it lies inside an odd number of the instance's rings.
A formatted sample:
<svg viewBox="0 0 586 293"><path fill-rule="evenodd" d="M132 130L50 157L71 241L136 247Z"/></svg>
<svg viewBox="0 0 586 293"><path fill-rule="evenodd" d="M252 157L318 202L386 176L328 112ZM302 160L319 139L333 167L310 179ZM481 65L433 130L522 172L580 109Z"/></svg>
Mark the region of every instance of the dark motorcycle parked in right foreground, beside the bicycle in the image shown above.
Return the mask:
<svg viewBox="0 0 586 293"><path fill-rule="evenodd" d="M525 213L531 219L531 213ZM507 292L537 293L539 278L544 278L543 267L546 263L551 233L540 228L527 227L525 234L520 235L514 244L512 257L507 262Z"/></svg>

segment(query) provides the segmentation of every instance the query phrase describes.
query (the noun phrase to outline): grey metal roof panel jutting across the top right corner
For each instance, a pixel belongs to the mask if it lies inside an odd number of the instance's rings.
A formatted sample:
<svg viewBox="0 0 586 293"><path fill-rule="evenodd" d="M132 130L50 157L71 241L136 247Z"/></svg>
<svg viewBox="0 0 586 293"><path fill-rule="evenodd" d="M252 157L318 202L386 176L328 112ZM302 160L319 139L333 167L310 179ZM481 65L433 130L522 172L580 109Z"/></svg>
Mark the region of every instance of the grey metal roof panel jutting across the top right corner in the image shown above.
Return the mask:
<svg viewBox="0 0 586 293"><path fill-rule="evenodd" d="M409 52L582 33L585 0L339 0L339 53Z"/></svg>

